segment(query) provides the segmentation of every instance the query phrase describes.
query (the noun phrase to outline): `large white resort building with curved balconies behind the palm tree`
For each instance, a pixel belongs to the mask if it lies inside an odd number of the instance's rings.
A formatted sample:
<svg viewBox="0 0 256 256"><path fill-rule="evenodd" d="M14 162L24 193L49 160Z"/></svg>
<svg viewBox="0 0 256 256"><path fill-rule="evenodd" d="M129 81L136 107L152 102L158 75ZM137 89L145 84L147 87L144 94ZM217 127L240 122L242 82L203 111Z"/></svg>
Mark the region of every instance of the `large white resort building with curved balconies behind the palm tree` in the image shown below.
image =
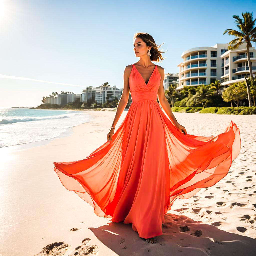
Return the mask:
<svg viewBox="0 0 256 256"><path fill-rule="evenodd" d="M246 43L237 50L228 50L229 44L216 44L212 47L189 49L181 55L183 62L178 65L179 86L198 86L199 84L215 83L219 80L222 86L245 81L244 74L249 73ZM252 71L256 71L255 48L250 48Z"/></svg>

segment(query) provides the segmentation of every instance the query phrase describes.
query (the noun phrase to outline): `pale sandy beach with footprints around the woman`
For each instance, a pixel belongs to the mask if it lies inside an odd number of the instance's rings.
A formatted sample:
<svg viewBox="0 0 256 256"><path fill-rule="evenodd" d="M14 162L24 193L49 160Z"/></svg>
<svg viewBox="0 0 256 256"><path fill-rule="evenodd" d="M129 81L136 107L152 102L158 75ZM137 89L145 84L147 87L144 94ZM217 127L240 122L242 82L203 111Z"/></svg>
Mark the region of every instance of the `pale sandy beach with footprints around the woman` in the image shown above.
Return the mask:
<svg viewBox="0 0 256 256"><path fill-rule="evenodd" d="M188 134L216 136L231 120L241 151L228 175L194 197L177 199L163 235L150 244L131 224L113 223L60 183L53 162L84 159L106 142L115 113L84 111L91 121L36 146L0 148L1 250L32 255L254 255L256 253L256 115L175 113ZM116 125L124 120L124 111ZM48 252L48 253L47 253ZM86 254L86 253L87 254Z"/></svg>

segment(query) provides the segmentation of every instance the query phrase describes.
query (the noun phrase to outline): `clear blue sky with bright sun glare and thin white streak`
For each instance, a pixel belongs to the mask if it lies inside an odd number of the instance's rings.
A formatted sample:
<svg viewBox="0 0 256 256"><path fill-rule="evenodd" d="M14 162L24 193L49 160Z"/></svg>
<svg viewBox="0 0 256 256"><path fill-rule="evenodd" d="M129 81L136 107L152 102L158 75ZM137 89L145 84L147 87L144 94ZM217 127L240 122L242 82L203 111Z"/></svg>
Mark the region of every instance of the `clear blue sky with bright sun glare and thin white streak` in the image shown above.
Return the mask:
<svg viewBox="0 0 256 256"><path fill-rule="evenodd" d="M0 75L21 77L0 78L0 107L36 107L52 92L79 94L104 82L122 88L124 68L139 60L136 32L164 43L165 59L154 63L176 73L184 51L230 42L223 33L237 28L232 16L255 7L252 0L0 0Z"/></svg>

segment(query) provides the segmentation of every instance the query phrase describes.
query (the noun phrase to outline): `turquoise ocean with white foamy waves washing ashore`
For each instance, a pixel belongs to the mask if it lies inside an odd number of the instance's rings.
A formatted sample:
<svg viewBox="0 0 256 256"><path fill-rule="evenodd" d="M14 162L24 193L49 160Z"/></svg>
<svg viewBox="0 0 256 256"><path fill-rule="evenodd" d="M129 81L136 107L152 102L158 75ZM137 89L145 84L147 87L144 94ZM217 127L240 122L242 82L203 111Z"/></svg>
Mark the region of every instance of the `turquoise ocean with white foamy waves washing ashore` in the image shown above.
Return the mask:
<svg viewBox="0 0 256 256"><path fill-rule="evenodd" d="M0 108L0 148L55 138L90 120L83 111Z"/></svg>

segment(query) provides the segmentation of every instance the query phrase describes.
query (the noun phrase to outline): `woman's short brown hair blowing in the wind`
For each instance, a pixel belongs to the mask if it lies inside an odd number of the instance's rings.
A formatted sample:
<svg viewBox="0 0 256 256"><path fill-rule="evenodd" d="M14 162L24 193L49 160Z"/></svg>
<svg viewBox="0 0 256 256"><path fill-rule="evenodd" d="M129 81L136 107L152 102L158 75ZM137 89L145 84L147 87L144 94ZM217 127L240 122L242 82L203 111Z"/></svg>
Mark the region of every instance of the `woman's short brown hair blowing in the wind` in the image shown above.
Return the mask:
<svg viewBox="0 0 256 256"><path fill-rule="evenodd" d="M150 34L147 34L147 33L135 33L133 39L138 38L138 37L145 42L146 46L152 46L152 48L150 50L150 53L151 53L150 60L151 61L160 62L159 59L161 59L161 60L165 59L162 57L162 53L164 53L166 51L162 52L162 51L158 50L158 48L160 48L163 44L158 46L155 43L154 38Z"/></svg>

